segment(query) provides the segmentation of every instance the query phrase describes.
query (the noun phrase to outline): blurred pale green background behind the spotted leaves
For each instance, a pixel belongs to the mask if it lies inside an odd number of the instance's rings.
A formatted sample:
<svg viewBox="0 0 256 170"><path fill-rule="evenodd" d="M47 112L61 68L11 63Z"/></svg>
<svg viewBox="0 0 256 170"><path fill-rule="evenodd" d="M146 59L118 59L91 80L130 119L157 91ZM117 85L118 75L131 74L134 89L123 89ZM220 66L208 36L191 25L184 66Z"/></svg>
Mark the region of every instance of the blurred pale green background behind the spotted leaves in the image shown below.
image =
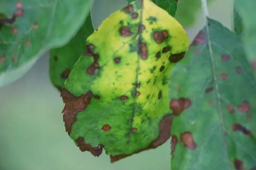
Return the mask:
<svg viewBox="0 0 256 170"><path fill-rule="evenodd" d="M198 6L200 0L180 0L176 15L190 39L204 24L202 12L196 12L193 3ZM94 28L125 4L126 0L95 0ZM212 0L210 16L231 28L231 4L231 0ZM195 22L192 13L196 13ZM0 88L0 170L170 169L170 140L113 164L104 152L99 158L81 152L65 132L61 114L64 104L51 85L48 62L49 53L45 53L22 79Z"/></svg>

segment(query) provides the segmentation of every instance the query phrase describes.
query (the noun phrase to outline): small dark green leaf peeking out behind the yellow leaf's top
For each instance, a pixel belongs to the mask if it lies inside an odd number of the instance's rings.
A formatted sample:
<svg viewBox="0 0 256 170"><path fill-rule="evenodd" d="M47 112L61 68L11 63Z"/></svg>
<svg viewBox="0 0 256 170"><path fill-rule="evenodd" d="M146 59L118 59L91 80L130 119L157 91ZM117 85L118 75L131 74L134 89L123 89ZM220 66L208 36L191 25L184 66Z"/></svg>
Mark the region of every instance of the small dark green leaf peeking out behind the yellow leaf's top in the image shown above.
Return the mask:
<svg viewBox="0 0 256 170"><path fill-rule="evenodd" d="M135 0L127 0L128 3L131 3ZM153 3L155 3L157 6L163 8L165 11L167 11L171 16L175 16L177 11L177 0L151 0Z"/></svg>

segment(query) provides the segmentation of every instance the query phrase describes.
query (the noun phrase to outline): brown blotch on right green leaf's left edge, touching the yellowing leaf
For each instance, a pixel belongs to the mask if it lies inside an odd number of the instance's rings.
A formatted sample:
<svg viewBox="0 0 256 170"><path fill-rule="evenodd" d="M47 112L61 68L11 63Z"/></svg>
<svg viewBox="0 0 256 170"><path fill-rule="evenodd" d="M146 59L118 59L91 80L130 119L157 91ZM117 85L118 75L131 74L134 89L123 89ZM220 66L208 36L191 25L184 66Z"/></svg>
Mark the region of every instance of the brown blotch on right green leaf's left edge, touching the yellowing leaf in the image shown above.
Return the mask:
<svg viewBox="0 0 256 170"><path fill-rule="evenodd" d="M191 100L188 98L171 99L170 109L174 116L179 116L183 110L188 109L191 106Z"/></svg>

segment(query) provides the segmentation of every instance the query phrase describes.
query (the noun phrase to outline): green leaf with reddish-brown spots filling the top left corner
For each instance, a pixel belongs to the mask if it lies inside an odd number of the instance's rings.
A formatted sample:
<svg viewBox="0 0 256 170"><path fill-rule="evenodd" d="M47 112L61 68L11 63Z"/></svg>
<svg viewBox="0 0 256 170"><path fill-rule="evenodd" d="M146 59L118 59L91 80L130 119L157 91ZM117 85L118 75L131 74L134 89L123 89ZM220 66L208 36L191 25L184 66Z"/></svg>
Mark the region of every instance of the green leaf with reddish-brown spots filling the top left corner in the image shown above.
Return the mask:
<svg viewBox="0 0 256 170"><path fill-rule="evenodd" d="M67 43L90 4L91 0L1 0L0 85L20 78L50 48Z"/></svg>

